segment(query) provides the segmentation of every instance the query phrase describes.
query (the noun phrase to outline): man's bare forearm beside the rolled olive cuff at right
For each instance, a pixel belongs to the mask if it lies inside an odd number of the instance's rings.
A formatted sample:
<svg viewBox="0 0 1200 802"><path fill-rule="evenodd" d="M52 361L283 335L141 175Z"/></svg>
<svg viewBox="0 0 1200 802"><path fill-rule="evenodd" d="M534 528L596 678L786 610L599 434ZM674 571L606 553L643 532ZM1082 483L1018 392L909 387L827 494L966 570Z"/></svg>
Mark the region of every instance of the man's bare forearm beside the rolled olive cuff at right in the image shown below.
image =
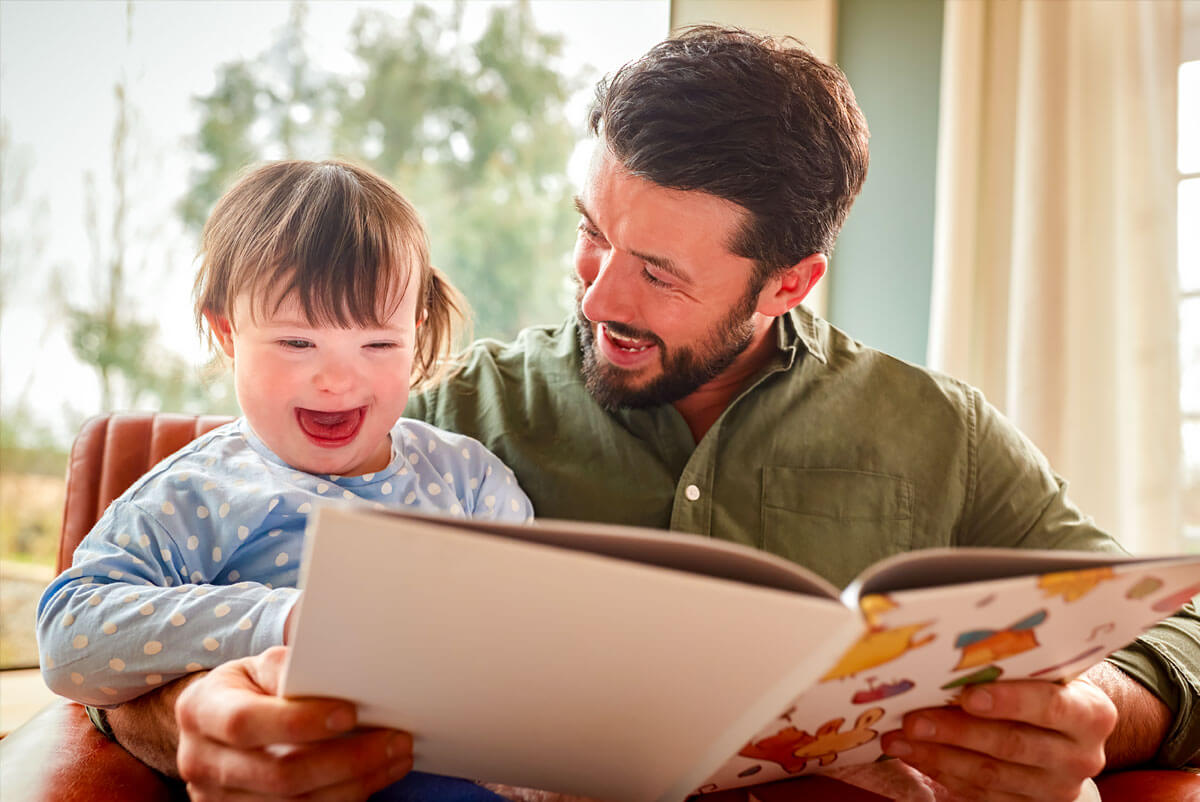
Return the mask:
<svg viewBox="0 0 1200 802"><path fill-rule="evenodd" d="M1152 762L1170 730L1171 710L1145 686L1109 663L1094 665L1084 676L1117 707L1117 726L1104 743L1105 771Z"/></svg>

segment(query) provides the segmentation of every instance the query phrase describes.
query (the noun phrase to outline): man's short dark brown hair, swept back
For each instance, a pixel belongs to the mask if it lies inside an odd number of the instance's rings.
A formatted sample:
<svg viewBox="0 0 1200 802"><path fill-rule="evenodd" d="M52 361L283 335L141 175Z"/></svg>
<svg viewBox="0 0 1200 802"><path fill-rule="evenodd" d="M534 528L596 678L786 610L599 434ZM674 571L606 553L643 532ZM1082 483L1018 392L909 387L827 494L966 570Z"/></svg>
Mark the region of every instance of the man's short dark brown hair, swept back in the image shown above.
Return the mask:
<svg viewBox="0 0 1200 802"><path fill-rule="evenodd" d="M730 250L762 276L829 253L866 178L846 76L736 28L689 28L602 79L588 125L634 175L745 208Z"/></svg>

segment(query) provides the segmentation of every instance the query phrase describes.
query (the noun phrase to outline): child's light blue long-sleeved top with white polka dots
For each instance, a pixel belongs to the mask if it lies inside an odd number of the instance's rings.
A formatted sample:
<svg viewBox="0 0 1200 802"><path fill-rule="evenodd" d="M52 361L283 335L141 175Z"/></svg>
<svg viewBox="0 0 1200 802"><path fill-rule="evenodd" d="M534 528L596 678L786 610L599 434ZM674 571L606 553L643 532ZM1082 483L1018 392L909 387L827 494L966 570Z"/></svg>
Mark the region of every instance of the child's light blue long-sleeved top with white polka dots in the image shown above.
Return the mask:
<svg viewBox="0 0 1200 802"><path fill-rule="evenodd" d="M113 707L282 644L318 504L533 517L512 472L479 442L401 419L391 443L378 473L317 475L286 465L241 418L160 462L109 505L42 594L47 686Z"/></svg>

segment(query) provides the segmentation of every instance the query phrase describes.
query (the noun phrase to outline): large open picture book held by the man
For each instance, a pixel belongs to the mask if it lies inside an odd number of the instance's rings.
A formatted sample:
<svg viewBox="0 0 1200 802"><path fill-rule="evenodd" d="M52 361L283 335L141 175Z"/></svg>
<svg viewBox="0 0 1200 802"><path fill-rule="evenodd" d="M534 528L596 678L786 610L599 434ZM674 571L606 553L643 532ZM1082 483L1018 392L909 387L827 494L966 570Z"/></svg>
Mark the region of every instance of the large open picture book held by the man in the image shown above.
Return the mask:
<svg viewBox="0 0 1200 802"><path fill-rule="evenodd" d="M965 684L1080 674L1200 593L1200 555L931 550L845 593L654 529L323 508L288 696L414 735L415 767L677 801L880 758Z"/></svg>

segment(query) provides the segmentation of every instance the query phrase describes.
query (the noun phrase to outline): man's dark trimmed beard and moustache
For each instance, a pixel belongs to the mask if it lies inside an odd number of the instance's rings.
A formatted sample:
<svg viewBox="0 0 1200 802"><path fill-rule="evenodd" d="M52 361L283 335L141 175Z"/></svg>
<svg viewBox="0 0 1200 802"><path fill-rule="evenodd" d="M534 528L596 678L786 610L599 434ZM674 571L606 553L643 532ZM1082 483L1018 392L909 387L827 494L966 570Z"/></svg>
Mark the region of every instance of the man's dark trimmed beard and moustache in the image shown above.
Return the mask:
<svg viewBox="0 0 1200 802"><path fill-rule="evenodd" d="M733 364L754 340L754 309L761 283L750 282L750 292L739 300L730 313L718 322L703 341L695 348L679 347L668 351L666 343L653 331L635 329L622 323L604 322L608 330L619 336L649 340L658 346L662 371L642 387L629 384L629 371L607 363L596 355L596 334L593 322L583 315L583 287L575 297L575 315L578 318L580 348L583 352L583 382L600 406L608 411L622 407L653 407L673 403L720 376ZM602 334L600 336L604 336Z"/></svg>

